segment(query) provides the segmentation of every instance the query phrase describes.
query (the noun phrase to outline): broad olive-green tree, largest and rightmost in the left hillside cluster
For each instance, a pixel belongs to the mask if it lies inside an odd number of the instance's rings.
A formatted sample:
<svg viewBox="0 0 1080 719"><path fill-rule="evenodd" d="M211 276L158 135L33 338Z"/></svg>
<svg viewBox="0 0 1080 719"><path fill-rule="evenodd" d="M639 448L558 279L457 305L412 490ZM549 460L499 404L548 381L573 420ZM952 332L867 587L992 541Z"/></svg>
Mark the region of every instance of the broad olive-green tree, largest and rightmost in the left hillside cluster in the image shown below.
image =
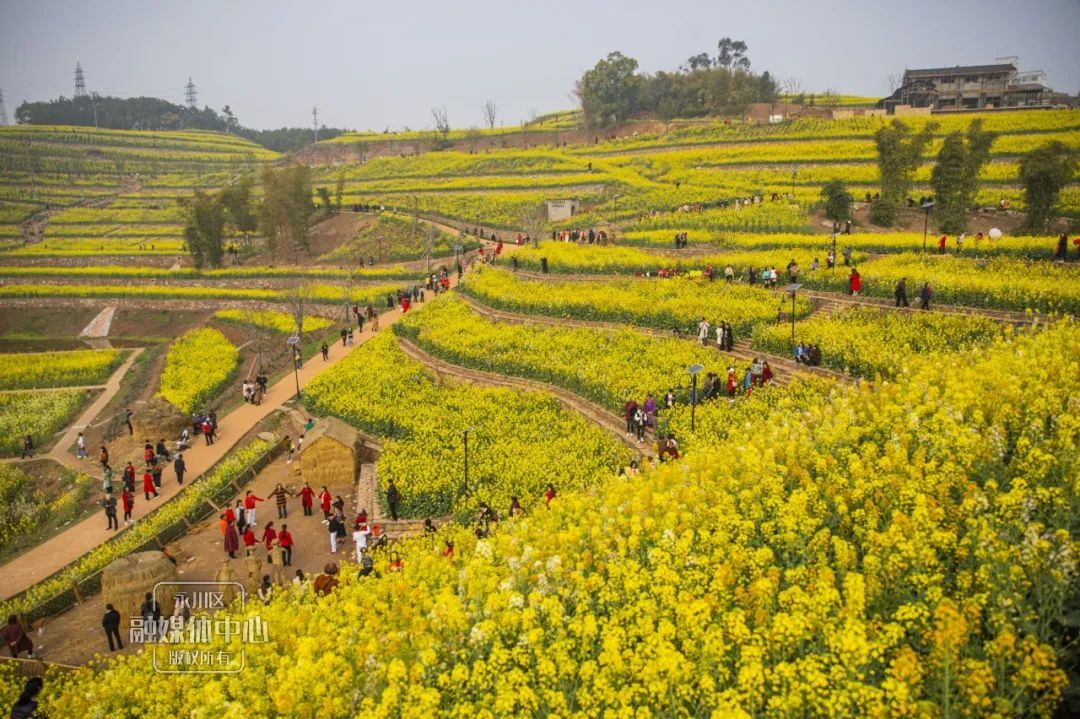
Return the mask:
<svg viewBox="0 0 1080 719"><path fill-rule="evenodd" d="M299 261L299 250L308 248L308 220L311 217L311 171L293 165L262 171L262 204L259 223L271 250L292 252Z"/></svg>

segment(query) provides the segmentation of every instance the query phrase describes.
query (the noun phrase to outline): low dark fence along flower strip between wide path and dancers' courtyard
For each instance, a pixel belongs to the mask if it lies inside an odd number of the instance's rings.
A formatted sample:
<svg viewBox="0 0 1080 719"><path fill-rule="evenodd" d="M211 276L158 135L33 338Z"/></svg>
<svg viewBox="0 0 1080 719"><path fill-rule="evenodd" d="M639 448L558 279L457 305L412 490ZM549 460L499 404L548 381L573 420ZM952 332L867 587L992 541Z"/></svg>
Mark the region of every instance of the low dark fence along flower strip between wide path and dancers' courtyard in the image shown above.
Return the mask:
<svg viewBox="0 0 1080 719"><path fill-rule="evenodd" d="M162 527L161 530L159 530L153 537L151 537L149 540L147 540L139 546L133 548L129 554L134 554L135 552L163 550L165 548L166 544L187 533L187 531L191 529L192 525L202 521L203 519L213 514L220 513L222 510L221 505L225 504L233 494L239 493L243 489L243 486L246 485L252 479L254 479L255 476L259 472L261 472L267 464L273 461L273 459L284 450L284 448L285 448L285 442L283 439L279 439L278 442L275 442L267 449L266 452L260 455L253 462L247 464L247 466L241 470L233 479L221 485L221 487L218 488L213 493L204 497L203 501L195 504L187 514L181 515L179 518L176 519L176 521L173 521ZM218 460L218 462L214 466L210 467L206 472L203 473L200 479L212 476L217 466L226 459L228 459L228 457L229 456L227 453L225 457ZM199 479L197 479L192 484L197 484L198 481ZM176 498L174 498L174 500ZM165 504L162 504L157 510L154 510L146 517L144 517L141 521L149 520L150 518L153 517L156 513L160 512L161 510L167 506L168 506L167 502ZM120 532L114 537L109 538L109 540L99 544L97 547L95 547L95 550L100 548L103 546L107 546L109 542L117 541L118 539L122 538L123 534L124 532ZM76 561L79 560L77 559ZM60 568L59 570L53 572L49 576L41 580L41 583L49 582L58 576L62 576L64 572L68 571L68 569L72 565L67 565ZM85 576L75 579L69 587L58 592L57 594L53 595L52 597L49 597L48 599L42 599L33 608L29 610L24 610L19 614L21 623L23 624L24 627L29 628L33 622L49 616L55 616L56 614L67 611L71 607L75 607L76 605L82 602L86 597L97 594L98 592L102 591L103 571L104 568L98 569L97 571L87 574ZM19 596L21 595L15 595L8 601L18 601Z"/></svg>

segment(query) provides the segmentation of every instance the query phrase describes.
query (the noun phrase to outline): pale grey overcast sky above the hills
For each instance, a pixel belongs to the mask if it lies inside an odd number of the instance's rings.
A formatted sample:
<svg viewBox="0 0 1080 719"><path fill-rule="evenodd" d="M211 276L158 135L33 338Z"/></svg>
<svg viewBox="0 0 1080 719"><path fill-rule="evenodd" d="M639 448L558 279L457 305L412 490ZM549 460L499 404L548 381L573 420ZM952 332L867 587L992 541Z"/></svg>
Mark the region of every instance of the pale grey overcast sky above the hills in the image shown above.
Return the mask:
<svg viewBox="0 0 1080 719"><path fill-rule="evenodd" d="M482 124L490 98L507 125L572 106L573 82L608 52L642 69L750 45L757 70L806 90L882 95L905 67L1018 55L1050 86L1080 90L1080 0L0 0L0 89L25 99L86 86L109 95L230 105L252 127Z"/></svg>

